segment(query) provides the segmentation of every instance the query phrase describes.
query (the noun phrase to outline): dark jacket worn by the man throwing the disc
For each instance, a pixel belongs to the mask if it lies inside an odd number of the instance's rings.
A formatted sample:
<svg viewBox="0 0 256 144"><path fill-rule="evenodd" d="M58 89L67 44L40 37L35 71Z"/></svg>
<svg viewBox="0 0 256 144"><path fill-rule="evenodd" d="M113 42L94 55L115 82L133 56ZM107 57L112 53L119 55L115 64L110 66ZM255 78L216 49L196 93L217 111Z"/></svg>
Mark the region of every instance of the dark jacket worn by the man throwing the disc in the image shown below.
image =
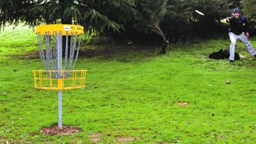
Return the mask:
<svg viewBox="0 0 256 144"><path fill-rule="evenodd" d="M243 32L243 24L245 24L245 32L249 31L248 21L243 16L240 16L239 19L236 19L235 17L230 17L230 21L228 23L230 23L229 31L236 35L240 35Z"/></svg>

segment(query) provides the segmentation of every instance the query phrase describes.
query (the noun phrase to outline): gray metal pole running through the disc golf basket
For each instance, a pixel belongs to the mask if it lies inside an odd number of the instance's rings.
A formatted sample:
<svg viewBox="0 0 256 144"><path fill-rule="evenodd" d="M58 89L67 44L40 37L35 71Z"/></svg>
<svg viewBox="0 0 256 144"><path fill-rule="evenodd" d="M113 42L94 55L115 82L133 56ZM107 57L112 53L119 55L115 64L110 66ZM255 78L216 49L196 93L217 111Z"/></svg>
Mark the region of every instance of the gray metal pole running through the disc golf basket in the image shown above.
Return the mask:
<svg viewBox="0 0 256 144"><path fill-rule="evenodd" d="M62 34L58 34L58 70L62 70ZM59 72L59 78L62 78L62 73ZM62 90L58 91L58 127L62 129Z"/></svg>

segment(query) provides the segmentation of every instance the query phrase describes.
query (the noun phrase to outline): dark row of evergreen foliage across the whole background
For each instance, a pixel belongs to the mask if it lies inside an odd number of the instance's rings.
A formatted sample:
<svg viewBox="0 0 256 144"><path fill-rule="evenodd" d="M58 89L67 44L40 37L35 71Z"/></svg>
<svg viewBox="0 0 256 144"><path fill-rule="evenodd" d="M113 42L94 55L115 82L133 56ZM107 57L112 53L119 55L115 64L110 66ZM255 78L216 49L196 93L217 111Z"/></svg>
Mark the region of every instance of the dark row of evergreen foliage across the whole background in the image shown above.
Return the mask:
<svg viewBox="0 0 256 144"><path fill-rule="evenodd" d="M1 0L0 27L79 24L115 39L166 43L226 34L228 26L221 19L233 8L241 8L253 32L255 6L254 0Z"/></svg>

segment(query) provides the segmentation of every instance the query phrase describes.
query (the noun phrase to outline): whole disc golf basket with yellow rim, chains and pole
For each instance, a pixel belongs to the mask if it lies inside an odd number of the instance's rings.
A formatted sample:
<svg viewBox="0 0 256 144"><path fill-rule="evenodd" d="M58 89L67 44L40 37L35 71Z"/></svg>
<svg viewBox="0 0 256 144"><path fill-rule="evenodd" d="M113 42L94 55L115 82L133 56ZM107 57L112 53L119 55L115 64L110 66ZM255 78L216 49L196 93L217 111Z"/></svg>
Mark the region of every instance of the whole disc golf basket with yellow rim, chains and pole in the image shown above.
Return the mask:
<svg viewBox="0 0 256 144"><path fill-rule="evenodd" d="M32 71L34 87L58 90L58 127L62 129L62 90L85 87L87 70L74 70L81 35L84 33L83 26L69 24L40 25L35 26L35 33L40 58L45 70ZM65 54L62 54L63 37L66 37ZM62 55L64 62L62 61Z"/></svg>

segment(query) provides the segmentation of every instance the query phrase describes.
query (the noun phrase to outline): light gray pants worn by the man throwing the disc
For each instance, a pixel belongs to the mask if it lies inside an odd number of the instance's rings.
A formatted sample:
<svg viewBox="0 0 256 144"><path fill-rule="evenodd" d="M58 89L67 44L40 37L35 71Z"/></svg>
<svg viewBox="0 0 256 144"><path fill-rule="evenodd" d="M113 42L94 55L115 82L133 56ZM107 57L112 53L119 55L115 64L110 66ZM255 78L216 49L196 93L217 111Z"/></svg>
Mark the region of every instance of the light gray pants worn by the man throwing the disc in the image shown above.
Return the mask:
<svg viewBox="0 0 256 144"><path fill-rule="evenodd" d="M231 45L230 45L230 60L234 60L235 58L235 46L236 46L236 42L237 39L241 40L245 46L247 47L249 53L251 56L254 56L256 54L255 49L253 48L252 44L248 41L248 39L245 37L244 33L242 33L241 35L236 35L232 32L228 33L229 38L231 40Z"/></svg>

